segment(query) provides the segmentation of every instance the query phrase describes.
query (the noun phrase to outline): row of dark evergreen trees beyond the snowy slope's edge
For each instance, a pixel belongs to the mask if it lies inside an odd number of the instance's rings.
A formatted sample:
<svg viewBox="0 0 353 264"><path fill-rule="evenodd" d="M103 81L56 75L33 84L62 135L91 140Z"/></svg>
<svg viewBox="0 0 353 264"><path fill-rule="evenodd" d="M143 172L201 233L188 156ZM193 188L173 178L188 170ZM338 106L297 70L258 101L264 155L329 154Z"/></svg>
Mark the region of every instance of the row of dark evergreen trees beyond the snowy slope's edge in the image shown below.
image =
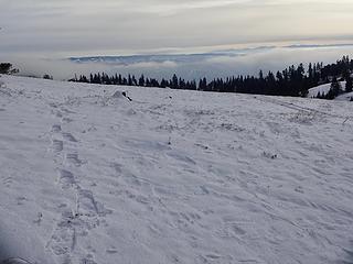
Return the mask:
<svg viewBox="0 0 353 264"><path fill-rule="evenodd" d="M171 79L147 78L141 75L121 76L120 74L107 75L105 73L75 76L71 81L101 84L101 85L124 85L124 86L141 86L141 87L160 87L172 89L189 89L202 91L218 92L242 92L270 96L292 96L306 97L308 90L321 84L328 84L333 78L347 80L352 82L351 73L353 70L353 59L343 56L336 63L323 65L322 63L310 63L308 69L303 64L290 66L277 73L268 72L264 74L259 72L258 76L232 76L227 78L200 80L185 80L175 74Z"/></svg>

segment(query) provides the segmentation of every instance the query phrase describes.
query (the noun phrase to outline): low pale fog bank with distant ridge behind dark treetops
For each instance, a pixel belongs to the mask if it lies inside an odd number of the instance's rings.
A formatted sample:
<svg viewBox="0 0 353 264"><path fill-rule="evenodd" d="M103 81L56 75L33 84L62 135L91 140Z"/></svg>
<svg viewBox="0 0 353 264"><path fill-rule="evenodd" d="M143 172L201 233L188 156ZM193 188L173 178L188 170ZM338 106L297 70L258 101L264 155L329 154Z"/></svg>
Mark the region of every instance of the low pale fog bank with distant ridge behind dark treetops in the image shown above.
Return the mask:
<svg viewBox="0 0 353 264"><path fill-rule="evenodd" d="M310 52L308 48L310 46ZM55 79L68 79L75 74L89 75L105 72L113 74L143 74L153 78L171 78L175 73L185 79L228 77L236 75L257 75L259 69L277 72L289 65L299 63L323 62L332 63L343 55L352 54L353 46L308 44L303 46L259 46L254 48L217 50L215 53L163 56L122 56L121 61L108 58L85 58L76 63L69 59L45 59L36 56L9 56L20 68L22 75L53 75Z"/></svg>

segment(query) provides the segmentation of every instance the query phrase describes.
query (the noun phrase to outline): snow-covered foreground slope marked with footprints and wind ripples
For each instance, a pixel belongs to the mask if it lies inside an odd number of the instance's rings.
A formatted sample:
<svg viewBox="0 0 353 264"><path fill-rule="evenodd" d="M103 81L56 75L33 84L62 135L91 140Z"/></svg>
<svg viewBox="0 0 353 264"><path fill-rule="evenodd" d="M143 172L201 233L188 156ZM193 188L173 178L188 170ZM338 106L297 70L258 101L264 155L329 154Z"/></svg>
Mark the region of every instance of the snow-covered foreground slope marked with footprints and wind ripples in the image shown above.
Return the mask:
<svg viewBox="0 0 353 264"><path fill-rule="evenodd" d="M353 262L353 103L1 79L1 260Z"/></svg>

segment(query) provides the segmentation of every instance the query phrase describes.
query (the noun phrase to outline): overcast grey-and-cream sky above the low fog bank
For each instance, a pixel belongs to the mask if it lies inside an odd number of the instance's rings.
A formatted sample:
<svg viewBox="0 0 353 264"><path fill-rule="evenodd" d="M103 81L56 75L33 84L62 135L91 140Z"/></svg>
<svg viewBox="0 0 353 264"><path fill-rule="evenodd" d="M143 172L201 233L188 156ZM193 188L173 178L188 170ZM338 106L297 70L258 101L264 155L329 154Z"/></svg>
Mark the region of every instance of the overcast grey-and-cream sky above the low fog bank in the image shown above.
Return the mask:
<svg viewBox="0 0 353 264"><path fill-rule="evenodd" d="M352 13L352 0L0 0L0 59L353 43Z"/></svg>

